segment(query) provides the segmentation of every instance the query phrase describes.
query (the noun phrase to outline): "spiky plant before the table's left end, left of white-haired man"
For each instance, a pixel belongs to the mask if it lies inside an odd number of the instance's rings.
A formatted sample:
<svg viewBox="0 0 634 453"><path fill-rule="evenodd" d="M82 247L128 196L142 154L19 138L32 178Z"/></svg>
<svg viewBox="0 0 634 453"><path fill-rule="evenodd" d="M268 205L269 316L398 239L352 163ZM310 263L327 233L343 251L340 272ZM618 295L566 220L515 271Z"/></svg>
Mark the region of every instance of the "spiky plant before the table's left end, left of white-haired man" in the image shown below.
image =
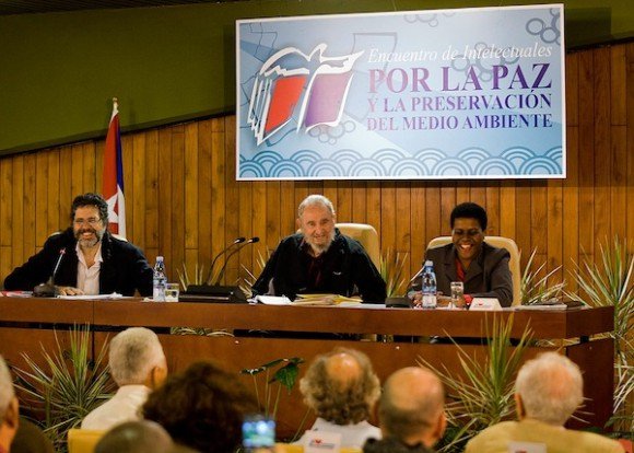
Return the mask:
<svg viewBox="0 0 634 453"><path fill-rule="evenodd" d="M64 452L68 430L78 427L91 410L110 398L115 385L104 361L106 344L94 361L90 358L92 344L87 325L73 326L69 330L68 349L57 330L55 341L57 348L51 352L42 347L48 370L28 355L22 355L27 369L14 369L15 386L34 421L39 422L52 440L55 451Z"/></svg>

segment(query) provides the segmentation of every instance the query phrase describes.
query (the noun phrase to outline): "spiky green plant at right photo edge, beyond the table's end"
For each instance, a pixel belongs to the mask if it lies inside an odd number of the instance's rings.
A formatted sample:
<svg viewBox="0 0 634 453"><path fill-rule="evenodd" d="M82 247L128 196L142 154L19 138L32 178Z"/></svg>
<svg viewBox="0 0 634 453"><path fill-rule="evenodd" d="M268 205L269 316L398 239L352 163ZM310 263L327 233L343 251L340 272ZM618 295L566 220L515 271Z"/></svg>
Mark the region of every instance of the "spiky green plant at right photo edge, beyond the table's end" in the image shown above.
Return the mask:
<svg viewBox="0 0 634 453"><path fill-rule="evenodd" d="M575 263L573 277L580 294L567 293L590 306L614 307L614 416L610 425L634 432L634 411L627 400L634 395L634 344L630 337L634 325L634 255L627 243L614 237L612 246L599 245L601 259L595 264L587 256L582 265ZM631 404L631 403L630 403Z"/></svg>

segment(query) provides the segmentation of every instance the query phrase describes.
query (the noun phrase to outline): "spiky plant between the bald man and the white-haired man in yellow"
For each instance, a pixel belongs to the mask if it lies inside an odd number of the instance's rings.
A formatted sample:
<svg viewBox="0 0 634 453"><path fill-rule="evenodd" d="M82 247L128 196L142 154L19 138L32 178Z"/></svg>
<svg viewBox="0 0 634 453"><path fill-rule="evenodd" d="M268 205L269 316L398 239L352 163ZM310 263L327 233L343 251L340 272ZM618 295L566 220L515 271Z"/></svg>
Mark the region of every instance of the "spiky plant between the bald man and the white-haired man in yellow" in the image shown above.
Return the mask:
<svg viewBox="0 0 634 453"><path fill-rule="evenodd" d="M527 326L515 345L510 342L513 315L504 322L493 318L492 332L485 324L484 359L469 355L454 339L460 361L460 372L453 373L419 358L418 362L438 374L447 390L448 429L441 452L462 451L465 444L484 428L513 416L515 376L531 333Z"/></svg>

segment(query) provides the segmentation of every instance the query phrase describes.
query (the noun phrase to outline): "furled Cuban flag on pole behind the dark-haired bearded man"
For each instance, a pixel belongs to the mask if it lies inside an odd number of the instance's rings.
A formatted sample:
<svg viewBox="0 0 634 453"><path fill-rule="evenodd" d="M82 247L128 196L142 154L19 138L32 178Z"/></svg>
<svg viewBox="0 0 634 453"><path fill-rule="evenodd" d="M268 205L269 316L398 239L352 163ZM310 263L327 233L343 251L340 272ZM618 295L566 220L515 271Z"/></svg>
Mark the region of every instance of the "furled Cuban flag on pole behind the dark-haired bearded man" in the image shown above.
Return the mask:
<svg viewBox="0 0 634 453"><path fill-rule="evenodd" d="M124 162L119 132L119 104L113 98L113 116L104 151L104 198L108 204L110 233L126 237L126 198L124 197Z"/></svg>

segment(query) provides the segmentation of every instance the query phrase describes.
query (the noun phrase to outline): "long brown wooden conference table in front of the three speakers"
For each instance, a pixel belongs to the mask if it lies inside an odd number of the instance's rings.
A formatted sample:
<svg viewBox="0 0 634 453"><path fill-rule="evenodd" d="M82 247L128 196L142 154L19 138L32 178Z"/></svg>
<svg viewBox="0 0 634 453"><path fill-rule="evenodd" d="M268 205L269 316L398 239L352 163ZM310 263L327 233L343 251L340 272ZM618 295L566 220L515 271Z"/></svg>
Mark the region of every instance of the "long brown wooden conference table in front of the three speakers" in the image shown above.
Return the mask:
<svg viewBox="0 0 634 453"><path fill-rule="evenodd" d="M92 353L116 332L145 326L158 333L171 372L197 360L215 360L231 371L254 369L281 358L309 362L336 346L362 350L385 380L402 367L426 360L438 369L460 373L458 348L484 360L480 339L492 332L494 320L513 316L512 338L531 329L524 359L545 350L560 350L584 372L588 398L583 419L571 427L602 427L612 414L614 385L613 307L576 307L563 311L505 309L501 312L386 309L383 305L278 306L234 303L155 303L140 299L61 300L0 298L0 353L24 367L22 353L44 364L42 348L55 348L55 334L64 341L68 329L90 325ZM204 327L220 335L173 335L174 327ZM234 336L231 336L231 335ZM441 341L428 341L439 337ZM457 338L456 346L447 340ZM301 365L301 375L307 363ZM254 383L240 375L247 387ZM291 435L305 414L297 386L280 398L278 429ZM308 420L310 422L310 420Z"/></svg>

